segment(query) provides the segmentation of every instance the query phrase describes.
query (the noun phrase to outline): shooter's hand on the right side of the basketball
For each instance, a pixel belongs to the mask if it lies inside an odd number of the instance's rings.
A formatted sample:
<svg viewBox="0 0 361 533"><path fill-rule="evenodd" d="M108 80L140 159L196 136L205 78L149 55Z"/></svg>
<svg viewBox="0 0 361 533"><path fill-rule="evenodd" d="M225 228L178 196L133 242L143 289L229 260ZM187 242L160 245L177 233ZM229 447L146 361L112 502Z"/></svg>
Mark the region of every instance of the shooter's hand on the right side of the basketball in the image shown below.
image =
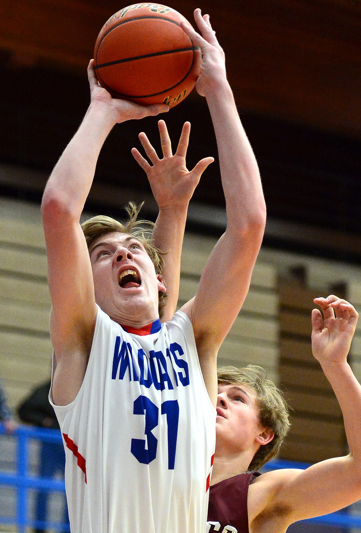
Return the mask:
<svg viewBox="0 0 361 533"><path fill-rule="evenodd" d="M214 91L219 83L224 83L227 79L224 52L215 37L215 31L210 23L210 15L202 16L200 9L196 9L194 19L202 35L199 35L186 22L181 22L180 25L202 52L202 63L200 64L196 89L201 96L207 96L210 91Z"/></svg>

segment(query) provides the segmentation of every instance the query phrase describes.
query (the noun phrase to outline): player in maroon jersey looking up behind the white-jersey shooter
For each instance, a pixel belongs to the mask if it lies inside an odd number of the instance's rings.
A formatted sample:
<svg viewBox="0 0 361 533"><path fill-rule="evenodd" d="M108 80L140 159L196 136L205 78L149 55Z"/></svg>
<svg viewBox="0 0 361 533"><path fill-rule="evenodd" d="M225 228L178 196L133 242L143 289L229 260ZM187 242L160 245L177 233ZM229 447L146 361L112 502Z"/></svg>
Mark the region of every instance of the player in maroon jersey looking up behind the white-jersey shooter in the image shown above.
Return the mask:
<svg viewBox="0 0 361 533"><path fill-rule="evenodd" d="M289 425L287 408L259 367L221 370L209 532L282 533L297 520L331 513L361 498L361 386L346 359L358 313L334 295L314 301L324 318L312 311L312 352L341 406L350 453L306 470L246 473L279 449Z"/></svg>

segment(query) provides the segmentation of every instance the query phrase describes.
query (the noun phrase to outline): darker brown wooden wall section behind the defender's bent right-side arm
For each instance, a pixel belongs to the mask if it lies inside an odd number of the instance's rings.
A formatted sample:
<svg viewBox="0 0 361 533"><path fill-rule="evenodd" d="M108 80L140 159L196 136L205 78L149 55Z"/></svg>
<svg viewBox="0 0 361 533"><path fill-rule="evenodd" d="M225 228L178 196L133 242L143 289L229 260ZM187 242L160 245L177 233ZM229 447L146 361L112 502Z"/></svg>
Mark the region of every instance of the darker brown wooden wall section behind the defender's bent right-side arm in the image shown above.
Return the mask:
<svg viewBox="0 0 361 533"><path fill-rule="evenodd" d="M280 457L317 462L347 454L342 412L311 350L311 310L318 292L280 279L279 379L291 407Z"/></svg>

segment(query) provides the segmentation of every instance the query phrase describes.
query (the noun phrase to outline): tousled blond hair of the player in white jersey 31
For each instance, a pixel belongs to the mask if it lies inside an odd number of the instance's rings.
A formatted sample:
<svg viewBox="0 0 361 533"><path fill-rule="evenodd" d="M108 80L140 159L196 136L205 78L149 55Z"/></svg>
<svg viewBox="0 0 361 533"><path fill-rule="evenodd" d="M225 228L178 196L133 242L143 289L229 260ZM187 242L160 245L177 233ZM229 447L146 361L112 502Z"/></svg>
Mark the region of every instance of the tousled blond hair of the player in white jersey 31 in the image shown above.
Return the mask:
<svg viewBox="0 0 361 533"><path fill-rule="evenodd" d="M93 216L91 219L83 222L82 230L85 236L86 245L88 250L90 250L94 242L99 237L107 235L107 233L113 233L114 231L119 233L127 233L127 235L135 237L142 243L154 264L156 274L162 276L164 267L164 254L151 242L154 223L150 222L149 220L138 219L142 205L143 204L136 205L133 202L130 202L125 207L129 219L124 224L106 215ZM163 316L166 297L166 293L160 291L158 292L159 318L162 318Z"/></svg>

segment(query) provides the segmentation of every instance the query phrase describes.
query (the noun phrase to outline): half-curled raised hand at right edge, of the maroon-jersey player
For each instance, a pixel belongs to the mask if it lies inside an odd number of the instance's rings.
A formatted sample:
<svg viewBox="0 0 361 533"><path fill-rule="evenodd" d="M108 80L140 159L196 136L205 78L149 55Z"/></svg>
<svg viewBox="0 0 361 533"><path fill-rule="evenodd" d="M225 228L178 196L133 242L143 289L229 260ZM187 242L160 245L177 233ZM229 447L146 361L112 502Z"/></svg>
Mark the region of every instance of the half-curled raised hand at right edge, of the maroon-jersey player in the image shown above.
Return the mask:
<svg viewBox="0 0 361 533"><path fill-rule="evenodd" d="M346 361L354 336L358 313L353 305L333 294L327 298L315 298L322 308L312 311L312 353L323 362Z"/></svg>

